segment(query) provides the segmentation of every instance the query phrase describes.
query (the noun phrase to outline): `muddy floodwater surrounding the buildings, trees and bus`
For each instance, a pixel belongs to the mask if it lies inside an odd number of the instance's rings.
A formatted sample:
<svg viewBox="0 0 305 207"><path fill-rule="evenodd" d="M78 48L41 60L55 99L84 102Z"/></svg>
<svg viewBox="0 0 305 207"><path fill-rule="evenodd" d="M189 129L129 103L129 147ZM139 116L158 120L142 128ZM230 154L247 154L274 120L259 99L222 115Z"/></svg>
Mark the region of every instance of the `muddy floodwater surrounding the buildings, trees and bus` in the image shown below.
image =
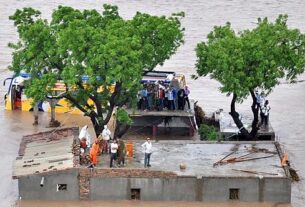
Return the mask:
<svg viewBox="0 0 305 207"><path fill-rule="evenodd" d="M205 39L214 25L232 23L233 28L241 30L253 28L257 17L267 16L274 19L280 13L288 13L288 24L305 32L305 1L304 0L0 0L0 81L11 75L7 66L11 62L11 50L8 42L17 40L16 29L8 20L17 8L31 6L42 11L45 18L50 18L51 11L59 4L73 6L79 9L97 9L101 11L103 3L117 4L120 13L125 18L131 18L136 11L157 15L168 15L177 11L186 12L183 20L185 44L179 48L164 66L158 69L175 70L186 75L187 83L191 88L191 98L198 100L207 112L219 108L229 110L230 97L226 97L218 90L219 83L209 78L191 80L190 75L195 73L196 44ZM289 153L292 166L298 170L301 181L292 184L292 205L305 206L305 75L301 75L300 82L294 85L282 84L277 86L269 95L271 105L270 121L278 140ZM0 88L0 100L6 88ZM237 109L244 114L250 113L250 100L244 101ZM41 123L32 126L32 113L4 111L3 101L0 101L0 207L14 205L18 200L18 185L12 180L12 162L17 156L19 142L22 135L47 130L45 127L49 114L40 114ZM88 119L69 114L58 115L58 119L65 126L82 126ZM92 131L92 128L91 128ZM202 204L186 202L22 202L17 206L275 206L273 204ZM279 205L278 205L279 206Z"/></svg>

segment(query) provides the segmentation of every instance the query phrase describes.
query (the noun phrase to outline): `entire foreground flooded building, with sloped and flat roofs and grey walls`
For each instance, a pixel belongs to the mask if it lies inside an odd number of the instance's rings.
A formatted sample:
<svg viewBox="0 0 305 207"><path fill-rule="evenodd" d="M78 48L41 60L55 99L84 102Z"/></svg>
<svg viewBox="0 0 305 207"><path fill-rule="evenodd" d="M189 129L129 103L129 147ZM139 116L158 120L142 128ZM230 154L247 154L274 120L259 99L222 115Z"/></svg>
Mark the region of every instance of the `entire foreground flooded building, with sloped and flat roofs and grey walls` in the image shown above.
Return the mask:
<svg viewBox="0 0 305 207"><path fill-rule="evenodd" d="M23 137L13 170L21 199L291 199L289 171L280 166L282 152L275 142L159 141L153 143L152 167L144 169L141 141L133 141L127 167L110 169L104 159L90 169L80 166L78 140L78 128Z"/></svg>

